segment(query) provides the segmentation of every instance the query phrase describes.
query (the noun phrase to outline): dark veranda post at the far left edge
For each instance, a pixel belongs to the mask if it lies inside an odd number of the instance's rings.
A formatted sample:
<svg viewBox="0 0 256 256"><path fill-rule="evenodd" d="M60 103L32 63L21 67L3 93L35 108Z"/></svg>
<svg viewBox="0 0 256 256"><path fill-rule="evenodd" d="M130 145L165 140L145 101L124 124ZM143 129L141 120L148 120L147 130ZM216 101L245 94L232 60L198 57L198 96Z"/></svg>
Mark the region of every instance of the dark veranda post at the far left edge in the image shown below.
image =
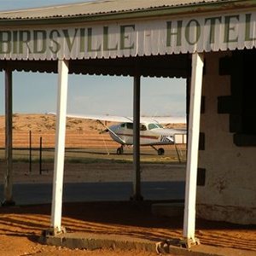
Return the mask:
<svg viewBox="0 0 256 256"><path fill-rule="evenodd" d="M12 71L5 70L5 160L3 206L13 201L13 79Z"/></svg>

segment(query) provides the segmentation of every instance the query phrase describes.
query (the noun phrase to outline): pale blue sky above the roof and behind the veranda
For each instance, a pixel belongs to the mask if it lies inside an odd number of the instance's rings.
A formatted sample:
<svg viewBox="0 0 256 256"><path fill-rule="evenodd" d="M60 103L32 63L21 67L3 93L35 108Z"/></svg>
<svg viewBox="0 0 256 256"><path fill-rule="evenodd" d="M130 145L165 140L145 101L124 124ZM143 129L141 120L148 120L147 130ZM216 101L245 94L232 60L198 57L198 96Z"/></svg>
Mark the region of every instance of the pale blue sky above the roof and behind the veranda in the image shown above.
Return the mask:
<svg viewBox="0 0 256 256"><path fill-rule="evenodd" d="M0 10L26 9L79 0L0 0ZM132 115L131 77L69 75L68 113ZM185 115L184 79L142 78L142 115ZM14 113L55 112L57 75L13 73ZM4 74L0 72L1 105L4 113Z"/></svg>

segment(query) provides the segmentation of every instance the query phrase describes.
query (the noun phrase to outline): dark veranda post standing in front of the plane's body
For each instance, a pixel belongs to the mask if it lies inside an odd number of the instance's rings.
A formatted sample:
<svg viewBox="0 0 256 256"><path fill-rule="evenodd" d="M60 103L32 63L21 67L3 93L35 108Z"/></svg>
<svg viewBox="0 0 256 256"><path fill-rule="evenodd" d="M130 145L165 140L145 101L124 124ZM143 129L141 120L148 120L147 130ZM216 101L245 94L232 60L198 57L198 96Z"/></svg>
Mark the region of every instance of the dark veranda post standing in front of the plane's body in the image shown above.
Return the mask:
<svg viewBox="0 0 256 256"><path fill-rule="evenodd" d="M140 171L140 101L141 76L136 74L133 79L133 195L132 200L140 201L141 171Z"/></svg>

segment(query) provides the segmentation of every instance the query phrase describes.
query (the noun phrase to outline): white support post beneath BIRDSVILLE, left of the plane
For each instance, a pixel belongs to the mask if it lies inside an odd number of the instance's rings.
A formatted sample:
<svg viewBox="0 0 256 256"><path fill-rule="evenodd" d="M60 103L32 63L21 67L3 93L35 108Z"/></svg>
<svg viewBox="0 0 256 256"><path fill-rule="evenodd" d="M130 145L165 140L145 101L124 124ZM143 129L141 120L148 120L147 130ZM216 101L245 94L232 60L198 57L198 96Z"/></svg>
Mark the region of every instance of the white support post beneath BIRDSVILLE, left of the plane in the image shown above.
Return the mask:
<svg viewBox="0 0 256 256"><path fill-rule="evenodd" d="M64 174L66 115L67 115L68 61L58 61L58 95L55 134L55 166L51 207L51 228L60 233L62 213L62 190Z"/></svg>

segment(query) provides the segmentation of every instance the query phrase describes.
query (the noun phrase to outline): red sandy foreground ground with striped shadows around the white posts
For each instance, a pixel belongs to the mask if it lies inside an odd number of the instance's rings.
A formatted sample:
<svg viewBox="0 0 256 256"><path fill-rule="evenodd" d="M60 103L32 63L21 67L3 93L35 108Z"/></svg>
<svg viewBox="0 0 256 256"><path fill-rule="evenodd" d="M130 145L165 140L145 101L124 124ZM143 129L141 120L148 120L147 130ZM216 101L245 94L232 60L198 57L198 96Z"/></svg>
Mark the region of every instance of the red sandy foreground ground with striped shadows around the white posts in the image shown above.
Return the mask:
<svg viewBox="0 0 256 256"><path fill-rule="evenodd" d="M137 251L102 249L70 250L38 243L42 230L49 228L50 206L2 208L0 255L155 255ZM183 218L156 217L150 207L128 203L69 203L63 207L62 224L69 232L128 235L160 241L182 237ZM197 220L196 237L205 245L254 250L255 227ZM249 252L249 251L248 251Z"/></svg>

